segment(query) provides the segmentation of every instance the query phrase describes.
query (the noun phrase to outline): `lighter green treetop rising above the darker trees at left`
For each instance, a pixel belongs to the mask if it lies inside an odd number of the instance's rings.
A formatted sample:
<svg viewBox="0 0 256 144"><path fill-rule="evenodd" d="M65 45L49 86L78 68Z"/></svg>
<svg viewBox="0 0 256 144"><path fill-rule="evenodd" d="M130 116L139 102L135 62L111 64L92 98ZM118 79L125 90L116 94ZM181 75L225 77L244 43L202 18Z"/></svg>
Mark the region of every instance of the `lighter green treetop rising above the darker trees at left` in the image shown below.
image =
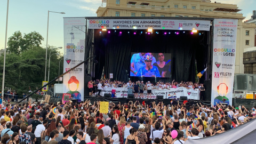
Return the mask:
<svg viewBox="0 0 256 144"><path fill-rule="evenodd" d="M22 36L20 31L15 31L15 33L8 38L7 45L11 53L19 55L26 50L40 46L43 40L43 36L36 31L24 34L24 36Z"/></svg>

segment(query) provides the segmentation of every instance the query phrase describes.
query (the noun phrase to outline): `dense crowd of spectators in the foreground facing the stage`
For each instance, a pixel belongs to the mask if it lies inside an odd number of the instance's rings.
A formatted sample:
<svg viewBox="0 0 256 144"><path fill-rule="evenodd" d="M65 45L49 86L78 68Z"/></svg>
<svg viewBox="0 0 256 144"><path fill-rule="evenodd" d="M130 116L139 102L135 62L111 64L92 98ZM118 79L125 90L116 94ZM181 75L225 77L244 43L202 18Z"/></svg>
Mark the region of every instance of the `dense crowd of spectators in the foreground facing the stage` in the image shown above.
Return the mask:
<svg viewBox="0 0 256 144"><path fill-rule="evenodd" d="M180 102L181 103L181 102ZM211 137L251 121L255 107L164 105L163 102L3 102L1 142L5 144L177 144Z"/></svg>

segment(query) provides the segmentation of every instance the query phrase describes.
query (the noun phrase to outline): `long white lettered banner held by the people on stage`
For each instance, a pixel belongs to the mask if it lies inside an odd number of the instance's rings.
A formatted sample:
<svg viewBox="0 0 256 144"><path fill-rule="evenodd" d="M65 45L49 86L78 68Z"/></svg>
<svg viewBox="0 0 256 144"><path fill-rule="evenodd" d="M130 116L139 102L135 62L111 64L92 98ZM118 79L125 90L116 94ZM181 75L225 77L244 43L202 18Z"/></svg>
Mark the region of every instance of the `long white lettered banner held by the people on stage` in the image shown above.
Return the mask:
<svg viewBox="0 0 256 144"><path fill-rule="evenodd" d="M114 91L115 92L114 92ZM108 88L104 87L100 95L103 97L105 93L115 94L116 98L127 98L127 88ZM187 97L188 99L199 100L199 89L186 89L185 87L178 87L170 90L152 90L151 99L156 99L156 95L163 95L164 99L176 99L180 97ZM147 98L147 91L144 91L143 98Z"/></svg>

